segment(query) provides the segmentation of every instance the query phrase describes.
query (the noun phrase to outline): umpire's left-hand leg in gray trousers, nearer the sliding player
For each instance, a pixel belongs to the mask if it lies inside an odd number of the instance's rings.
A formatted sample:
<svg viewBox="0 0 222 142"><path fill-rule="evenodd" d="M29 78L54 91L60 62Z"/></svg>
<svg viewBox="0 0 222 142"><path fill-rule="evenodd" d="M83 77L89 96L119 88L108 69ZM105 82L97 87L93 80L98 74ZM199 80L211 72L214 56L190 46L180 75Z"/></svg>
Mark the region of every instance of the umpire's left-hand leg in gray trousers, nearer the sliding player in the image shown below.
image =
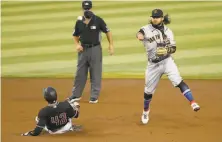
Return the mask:
<svg viewBox="0 0 222 142"><path fill-rule="evenodd" d="M84 49L82 52L78 53L77 71L72 89L72 96L69 97L70 100L80 100L83 89L85 88L89 66L86 52L87 49Z"/></svg>

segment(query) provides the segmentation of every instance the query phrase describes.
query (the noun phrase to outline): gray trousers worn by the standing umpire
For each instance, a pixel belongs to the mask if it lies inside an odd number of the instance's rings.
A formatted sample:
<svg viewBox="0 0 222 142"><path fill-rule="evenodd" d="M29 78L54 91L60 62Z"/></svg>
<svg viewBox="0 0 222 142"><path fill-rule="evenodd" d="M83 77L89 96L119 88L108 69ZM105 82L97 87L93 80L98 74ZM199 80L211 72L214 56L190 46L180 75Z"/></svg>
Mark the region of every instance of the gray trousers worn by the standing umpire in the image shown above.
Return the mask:
<svg viewBox="0 0 222 142"><path fill-rule="evenodd" d="M84 47L83 47L84 48ZM77 72L74 80L72 96L70 99L82 96L83 89L90 73L91 98L98 99L101 90L102 78L102 47L97 45L91 48L84 48L78 53Z"/></svg>

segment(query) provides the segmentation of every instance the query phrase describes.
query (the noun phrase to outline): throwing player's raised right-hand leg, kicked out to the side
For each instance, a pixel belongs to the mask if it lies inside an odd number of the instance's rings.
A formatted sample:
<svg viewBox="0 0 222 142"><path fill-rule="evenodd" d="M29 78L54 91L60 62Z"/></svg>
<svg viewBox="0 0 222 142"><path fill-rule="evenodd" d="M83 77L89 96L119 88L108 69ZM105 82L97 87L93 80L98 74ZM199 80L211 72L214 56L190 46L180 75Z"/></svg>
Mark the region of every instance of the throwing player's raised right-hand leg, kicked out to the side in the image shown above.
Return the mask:
<svg viewBox="0 0 222 142"><path fill-rule="evenodd" d="M180 88L181 93L186 97L186 99L190 102L191 107L194 111L198 111L200 109L199 105L194 101L192 92L188 85L183 81L179 70L177 68L176 63L172 58L166 60L165 64L165 72L175 87Z"/></svg>

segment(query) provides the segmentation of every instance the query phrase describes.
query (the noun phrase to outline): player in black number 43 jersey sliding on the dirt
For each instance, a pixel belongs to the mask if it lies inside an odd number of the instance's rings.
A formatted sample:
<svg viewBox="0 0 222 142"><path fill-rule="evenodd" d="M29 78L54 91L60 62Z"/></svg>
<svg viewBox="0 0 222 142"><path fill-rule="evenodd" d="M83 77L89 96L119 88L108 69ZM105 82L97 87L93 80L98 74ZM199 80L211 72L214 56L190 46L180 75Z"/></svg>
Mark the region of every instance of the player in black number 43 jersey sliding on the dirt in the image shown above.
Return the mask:
<svg viewBox="0 0 222 142"><path fill-rule="evenodd" d="M57 93L52 87L45 88L43 95L48 102L48 106L39 111L36 117L36 128L22 134L22 136L38 136L43 130L49 134L81 130L81 126L72 125L72 118L78 118L79 116L79 103L57 102Z"/></svg>

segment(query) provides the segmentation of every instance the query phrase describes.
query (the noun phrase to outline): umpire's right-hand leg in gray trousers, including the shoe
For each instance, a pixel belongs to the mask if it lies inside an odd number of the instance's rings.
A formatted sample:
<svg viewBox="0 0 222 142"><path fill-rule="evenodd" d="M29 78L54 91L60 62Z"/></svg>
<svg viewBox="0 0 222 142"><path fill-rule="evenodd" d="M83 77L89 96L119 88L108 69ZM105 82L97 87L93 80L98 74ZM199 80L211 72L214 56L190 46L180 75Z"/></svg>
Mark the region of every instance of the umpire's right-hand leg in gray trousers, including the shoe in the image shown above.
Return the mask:
<svg viewBox="0 0 222 142"><path fill-rule="evenodd" d="M102 48L100 45L91 48L90 57L89 71L91 81L91 97L89 102L97 103L102 80Z"/></svg>

